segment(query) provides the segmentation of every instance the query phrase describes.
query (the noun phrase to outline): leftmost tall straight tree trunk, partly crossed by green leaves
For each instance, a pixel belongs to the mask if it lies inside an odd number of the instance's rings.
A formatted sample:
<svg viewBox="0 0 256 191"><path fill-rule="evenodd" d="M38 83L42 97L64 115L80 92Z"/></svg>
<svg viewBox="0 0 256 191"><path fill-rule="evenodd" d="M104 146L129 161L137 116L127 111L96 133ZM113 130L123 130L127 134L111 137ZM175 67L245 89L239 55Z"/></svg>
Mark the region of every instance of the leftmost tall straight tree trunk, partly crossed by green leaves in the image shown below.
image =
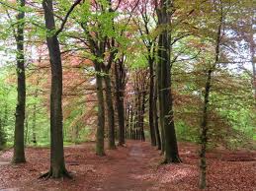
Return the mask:
<svg viewBox="0 0 256 191"><path fill-rule="evenodd" d="M24 122L26 107L26 77L25 77L25 56L24 56L24 18L25 0L17 0L21 6L17 16L17 77L18 77L18 102L15 112L15 132L14 132L14 155L13 163L26 162L24 151Z"/></svg>

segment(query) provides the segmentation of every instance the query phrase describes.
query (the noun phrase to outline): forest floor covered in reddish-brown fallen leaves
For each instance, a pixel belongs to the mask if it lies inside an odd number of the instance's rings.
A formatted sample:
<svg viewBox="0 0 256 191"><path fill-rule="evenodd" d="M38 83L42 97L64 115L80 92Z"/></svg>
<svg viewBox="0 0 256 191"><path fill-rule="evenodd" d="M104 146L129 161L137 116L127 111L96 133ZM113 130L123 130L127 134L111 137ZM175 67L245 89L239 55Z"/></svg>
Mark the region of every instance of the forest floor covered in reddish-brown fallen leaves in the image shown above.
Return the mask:
<svg viewBox="0 0 256 191"><path fill-rule="evenodd" d="M180 164L159 165L159 152L149 143L128 141L126 147L97 157L94 143L65 148L66 167L73 179L43 180L49 150L28 148L28 162L12 165L12 150L0 153L0 190L190 191L198 189L199 159L195 145L179 145ZM209 191L256 191L256 152L213 150L208 153Z"/></svg>

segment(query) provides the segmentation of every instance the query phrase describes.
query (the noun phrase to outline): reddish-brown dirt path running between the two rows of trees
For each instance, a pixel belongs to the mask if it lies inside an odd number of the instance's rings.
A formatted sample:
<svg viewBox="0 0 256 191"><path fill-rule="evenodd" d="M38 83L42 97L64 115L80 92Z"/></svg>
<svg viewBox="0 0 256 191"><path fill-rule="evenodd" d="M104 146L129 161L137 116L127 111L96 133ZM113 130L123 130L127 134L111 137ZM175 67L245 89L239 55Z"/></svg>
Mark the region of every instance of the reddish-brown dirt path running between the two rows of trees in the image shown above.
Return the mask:
<svg viewBox="0 0 256 191"><path fill-rule="evenodd" d="M150 169L147 161L151 157L143 152L141 144L129 145L128 159L121 159L116 163L113 167L114 173L106 179L103 190L152 190L154 182L141 181L141 176Z"/></svg>

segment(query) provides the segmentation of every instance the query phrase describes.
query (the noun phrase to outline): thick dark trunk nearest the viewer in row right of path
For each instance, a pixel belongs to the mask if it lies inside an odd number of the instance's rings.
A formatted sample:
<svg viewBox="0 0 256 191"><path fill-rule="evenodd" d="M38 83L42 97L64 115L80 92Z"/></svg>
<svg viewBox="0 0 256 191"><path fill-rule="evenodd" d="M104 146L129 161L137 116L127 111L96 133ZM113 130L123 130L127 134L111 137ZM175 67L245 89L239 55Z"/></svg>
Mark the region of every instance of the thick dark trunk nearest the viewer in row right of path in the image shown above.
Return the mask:
<svg viewBox="0 0 256 191"><path fill-rule="evenodd" d="M164 25L165 28L169 25L169 9L171 4L169 0L162 0L160 7L160 14L158 13L159 25ZM173 98L171 93L171 63L170 63L170 39L169 32L164 29L160 33L159 37L159 64L161 71L161 78L159 83L161 84L160 97L160 109L162 109L163 127L165 136L165 163L169 162L180 162L178 153L178 144L174 126L173 116Z"/></svg>

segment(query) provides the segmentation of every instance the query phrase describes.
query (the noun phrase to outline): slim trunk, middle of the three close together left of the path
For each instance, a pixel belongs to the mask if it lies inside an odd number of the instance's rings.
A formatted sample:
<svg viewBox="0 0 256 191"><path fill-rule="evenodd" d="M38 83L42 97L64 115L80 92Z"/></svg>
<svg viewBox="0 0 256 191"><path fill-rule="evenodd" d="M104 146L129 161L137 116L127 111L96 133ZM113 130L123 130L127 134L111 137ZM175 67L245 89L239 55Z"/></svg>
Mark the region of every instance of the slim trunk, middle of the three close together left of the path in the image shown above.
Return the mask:
<svg viewBox="0 0 256 191"><path fill-rule="evenodd" d="M114 115L114 106L112 98L112 87L111 87L111 78L109 70L105 71L104 81L106 85L106 102L108 109L108 124L109 124L109 149L116 149L115 145L115 115Z"/></svg>

